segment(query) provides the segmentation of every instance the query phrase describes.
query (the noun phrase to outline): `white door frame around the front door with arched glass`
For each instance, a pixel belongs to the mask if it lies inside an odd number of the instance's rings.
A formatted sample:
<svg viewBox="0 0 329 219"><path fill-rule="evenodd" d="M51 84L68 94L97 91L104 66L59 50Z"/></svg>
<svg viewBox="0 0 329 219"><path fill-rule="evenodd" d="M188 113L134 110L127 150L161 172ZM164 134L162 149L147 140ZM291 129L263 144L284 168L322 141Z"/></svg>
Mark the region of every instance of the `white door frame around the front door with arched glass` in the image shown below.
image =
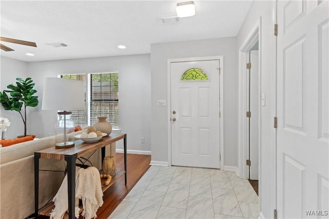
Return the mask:
<svg viewBox="0 0 329 219"><path fill-rule="evenodd" d="M220 154L221 169L224 168L224 59L223 55L220 56L206 56L206 57L191 57L191 58L171 58L167 60L167 127L168 127L168 165L171 166L171 63L178 62L195 62L195 61L208 61L208 60L219 60L220 61Z"/></svg>

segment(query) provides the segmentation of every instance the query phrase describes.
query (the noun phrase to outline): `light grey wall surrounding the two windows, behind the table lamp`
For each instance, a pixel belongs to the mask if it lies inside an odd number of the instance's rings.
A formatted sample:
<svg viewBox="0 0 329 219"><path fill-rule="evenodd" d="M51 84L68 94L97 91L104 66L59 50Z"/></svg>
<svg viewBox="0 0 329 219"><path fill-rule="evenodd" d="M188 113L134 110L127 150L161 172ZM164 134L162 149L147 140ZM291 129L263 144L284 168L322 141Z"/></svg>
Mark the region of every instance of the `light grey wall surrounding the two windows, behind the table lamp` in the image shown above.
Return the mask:
<svg viewBox="0 0 329 219"><path fill-rule="evenodd" d="M9 61L10 63L8 63ZM63 73L118 71L119 126L122 130L121 132L127 133L127 150L151 150L150 54L30 63L6 58L1 65L1 85L6 84L11 77L15 78L19 75L19 69L8 73L5 71L11 68L11 66L18 66L17 63L22 66L21 71L24 74L32 77L35 82L34 88L38 90L37 94L39 95L39 106L31 111L29 115L28 133L33 132L37 137L54 135L54 124L57 121L56 111L41 110L45 77L57 77L58 74ZM6 82L3 82L3 74L6 75L4 76ZM145 138L144 144L140 143L141 137ZM122 144L119 144L117 148L123 149L121 147Z"/></svg>

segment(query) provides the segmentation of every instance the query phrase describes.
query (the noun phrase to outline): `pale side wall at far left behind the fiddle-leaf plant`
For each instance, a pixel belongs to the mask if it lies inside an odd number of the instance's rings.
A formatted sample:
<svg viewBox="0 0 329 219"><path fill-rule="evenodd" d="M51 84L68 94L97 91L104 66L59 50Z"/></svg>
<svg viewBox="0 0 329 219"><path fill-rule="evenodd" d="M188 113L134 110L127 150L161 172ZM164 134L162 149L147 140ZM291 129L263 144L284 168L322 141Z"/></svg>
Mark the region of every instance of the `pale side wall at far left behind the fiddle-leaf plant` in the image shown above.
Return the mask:
<svg viewBox="0 0 329 219"><path fill-rule="evenodd" d="M18 61L16 59L7 58L3 56L1 56L0 62L1 62L1 72L0 72L1 92L3 90L6 90L8 85L15 84L17 77L21 77L25 79L26 77L30 76L27 73L26 62ZM35 95L38 94L39 93L36 93ZM32 107L27 108L28 118L29 118L28 115L31 113L32 109L33 109ZM22 108L22 113L24 116L24 107ZM8 118L8 120L11 123L10 126L8 127L8 130L5 132L5 138L11 139L11 138L16 138L17 135L24 135L24 123L19 112L4 110L4 107L1 105L0 116ZM30 121L28 121L28 123L30 123ZM27 133L28 134L30 133L29 130L27 130Z"/></svg>

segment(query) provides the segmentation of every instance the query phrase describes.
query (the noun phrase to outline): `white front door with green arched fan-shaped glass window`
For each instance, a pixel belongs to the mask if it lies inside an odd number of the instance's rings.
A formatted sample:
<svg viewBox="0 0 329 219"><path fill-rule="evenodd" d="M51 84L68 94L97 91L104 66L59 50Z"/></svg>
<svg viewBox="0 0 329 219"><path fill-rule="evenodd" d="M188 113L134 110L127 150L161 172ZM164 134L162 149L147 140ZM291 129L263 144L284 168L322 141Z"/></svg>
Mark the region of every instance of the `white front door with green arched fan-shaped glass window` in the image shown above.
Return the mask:
<svg viewBox="0 0 329 219"><path fill-rule="evenodd" d="M219 65L171 63L172 165L220 168Z"/></svg>

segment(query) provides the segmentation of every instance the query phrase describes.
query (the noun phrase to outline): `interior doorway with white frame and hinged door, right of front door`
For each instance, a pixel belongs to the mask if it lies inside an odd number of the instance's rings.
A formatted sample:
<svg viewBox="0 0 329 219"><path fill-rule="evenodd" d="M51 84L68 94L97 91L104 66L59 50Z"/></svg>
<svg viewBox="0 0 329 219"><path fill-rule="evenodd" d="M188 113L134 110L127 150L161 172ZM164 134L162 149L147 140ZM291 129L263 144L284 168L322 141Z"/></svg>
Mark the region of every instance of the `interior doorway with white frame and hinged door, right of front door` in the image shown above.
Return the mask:
<svg viewBox="0 0 329 219"><path fill-rule="evenodd" d="M239 177L261 182L261 17L239 48ZM265 94L264 94L265 95ZM265 101L265 99L264 99ZM250 180L251 179L251 180Z"/></svg>

